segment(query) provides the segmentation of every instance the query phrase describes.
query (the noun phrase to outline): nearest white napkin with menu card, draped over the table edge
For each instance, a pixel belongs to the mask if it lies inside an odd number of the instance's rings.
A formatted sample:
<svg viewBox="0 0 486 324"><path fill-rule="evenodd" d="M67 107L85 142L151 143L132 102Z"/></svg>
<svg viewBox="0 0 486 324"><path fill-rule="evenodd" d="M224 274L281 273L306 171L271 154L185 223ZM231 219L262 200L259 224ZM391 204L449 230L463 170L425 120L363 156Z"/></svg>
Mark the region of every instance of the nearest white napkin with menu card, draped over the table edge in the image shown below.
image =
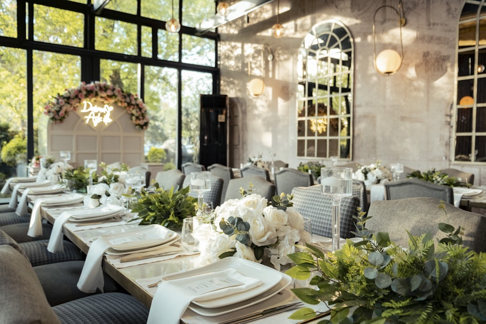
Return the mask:
<svg viewBox="0 0 486 324"><path fill-rule="evenodd" d="M230 268L219 272L162 281L150 307L147 324L179 324L192 301L206 301L260 286L257 278Z"/></svg>

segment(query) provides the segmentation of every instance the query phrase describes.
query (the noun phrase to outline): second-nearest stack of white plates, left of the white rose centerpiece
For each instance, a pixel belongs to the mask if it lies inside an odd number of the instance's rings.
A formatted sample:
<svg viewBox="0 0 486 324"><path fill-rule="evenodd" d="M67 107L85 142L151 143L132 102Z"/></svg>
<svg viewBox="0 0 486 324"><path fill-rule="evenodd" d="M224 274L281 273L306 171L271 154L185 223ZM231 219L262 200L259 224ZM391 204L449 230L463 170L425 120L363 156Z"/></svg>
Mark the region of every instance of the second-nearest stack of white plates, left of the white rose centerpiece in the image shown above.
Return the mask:
<svg viewBox="0 0 486 324"><path fill-rule="evenodd" d="M174 243L179 238L179 234L157 224L125 233L104 236L104 239L107 239L111 244L106 254L113 256L158 250Z"/></svg>

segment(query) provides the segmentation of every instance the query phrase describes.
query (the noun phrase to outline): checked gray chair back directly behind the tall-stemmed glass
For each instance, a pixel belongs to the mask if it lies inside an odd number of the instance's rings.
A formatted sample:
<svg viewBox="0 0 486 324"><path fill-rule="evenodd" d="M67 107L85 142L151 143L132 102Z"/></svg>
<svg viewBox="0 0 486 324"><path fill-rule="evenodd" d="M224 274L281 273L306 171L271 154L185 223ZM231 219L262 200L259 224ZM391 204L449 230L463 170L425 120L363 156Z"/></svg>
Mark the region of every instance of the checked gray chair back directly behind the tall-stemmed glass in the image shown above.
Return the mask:
<svg viewBox="0 0 486 324"><path fill-rule="evenodd" d="M331 237L332 234L332 199L324 196L322 187L295 187L292 190L294 208L302 216L309 217L312 223L312 234ZM353 216L358 215L358 197L350 196L341 200L341 238L354 238L352 231L356 231Z"/></svg>

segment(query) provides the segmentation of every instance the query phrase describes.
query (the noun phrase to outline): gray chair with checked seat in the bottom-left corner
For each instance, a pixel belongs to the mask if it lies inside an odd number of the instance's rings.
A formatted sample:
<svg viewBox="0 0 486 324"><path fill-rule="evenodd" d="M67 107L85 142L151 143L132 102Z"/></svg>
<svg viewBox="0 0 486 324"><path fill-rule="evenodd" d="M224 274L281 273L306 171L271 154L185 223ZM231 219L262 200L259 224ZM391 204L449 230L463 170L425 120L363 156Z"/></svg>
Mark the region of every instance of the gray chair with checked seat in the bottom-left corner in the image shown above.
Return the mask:
<svg viewBox="0 0 486 324"><path fill-rule="evenodd" d="M111 292L51 307L29 261L12 246L0 246L0 323L146 323L149 310L136 298ZM54 274L52 274L54 275ZM63 289L58 286L58 289Z"/></svg>

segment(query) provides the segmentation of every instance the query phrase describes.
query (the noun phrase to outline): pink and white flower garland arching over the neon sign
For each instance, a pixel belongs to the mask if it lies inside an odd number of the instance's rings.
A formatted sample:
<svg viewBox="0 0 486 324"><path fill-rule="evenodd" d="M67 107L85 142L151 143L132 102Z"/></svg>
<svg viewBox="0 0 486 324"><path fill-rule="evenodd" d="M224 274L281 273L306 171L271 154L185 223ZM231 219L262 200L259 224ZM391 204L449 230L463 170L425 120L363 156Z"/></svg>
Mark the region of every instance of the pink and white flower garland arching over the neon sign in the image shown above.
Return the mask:
<svg viewBox="0 0 486 324"><path fill-rule="evenodd" d="M69 116L71 110L76 110L83 100L93 98L105 104L115 103L125 108L136 128L140 130L148 128L149 118L143 100L136 94L124 92L117 86L99 81L90 84L83 82L77 88L66 89L63 94L58 93L44 107L44 115L47 115L55 124L61 123Z"/></svg>

